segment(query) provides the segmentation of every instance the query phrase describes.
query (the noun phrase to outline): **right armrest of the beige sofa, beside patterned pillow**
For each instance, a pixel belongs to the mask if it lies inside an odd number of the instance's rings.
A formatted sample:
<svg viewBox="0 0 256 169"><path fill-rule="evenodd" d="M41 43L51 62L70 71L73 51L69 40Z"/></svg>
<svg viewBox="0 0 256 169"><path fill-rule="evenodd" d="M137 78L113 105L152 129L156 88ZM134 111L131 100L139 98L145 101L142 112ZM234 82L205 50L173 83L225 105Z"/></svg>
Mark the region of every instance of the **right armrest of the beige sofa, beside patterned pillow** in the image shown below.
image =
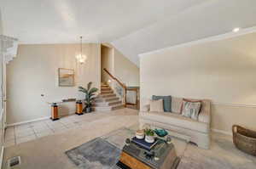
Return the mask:
<svg viewBox="0 0 256 169"><path fill-rule="evenodd" d="M198 115L198 121L211 123L211 101L210 100L203 100L203 105L201 108L201 112Z"/></svg>

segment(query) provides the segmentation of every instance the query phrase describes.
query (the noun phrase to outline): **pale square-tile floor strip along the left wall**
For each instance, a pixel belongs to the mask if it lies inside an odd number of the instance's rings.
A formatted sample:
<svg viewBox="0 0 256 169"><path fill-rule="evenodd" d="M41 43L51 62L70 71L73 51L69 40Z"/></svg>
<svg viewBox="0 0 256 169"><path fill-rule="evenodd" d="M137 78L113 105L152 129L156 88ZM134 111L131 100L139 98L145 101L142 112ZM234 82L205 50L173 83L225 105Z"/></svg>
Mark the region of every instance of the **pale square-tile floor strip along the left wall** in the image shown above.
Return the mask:
<svg viewBox="0 0 256 169"><path fill-rule="evenodd" d="M76 127L79 128L86 124L85 121L84 115L68 115L59 121L49 119L8 127L5 132L4 146L9 147L55 133L66 132Z"/></svg>

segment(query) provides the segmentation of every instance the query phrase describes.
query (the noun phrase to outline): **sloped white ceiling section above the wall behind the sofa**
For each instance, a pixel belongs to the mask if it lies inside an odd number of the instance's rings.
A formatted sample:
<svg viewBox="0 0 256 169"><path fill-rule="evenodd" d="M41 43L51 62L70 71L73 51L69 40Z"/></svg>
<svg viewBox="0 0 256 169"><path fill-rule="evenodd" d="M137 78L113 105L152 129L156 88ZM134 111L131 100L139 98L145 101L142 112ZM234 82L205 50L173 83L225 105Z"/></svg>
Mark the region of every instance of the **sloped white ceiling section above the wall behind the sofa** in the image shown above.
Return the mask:
<svg viewBox="0 0 256 169"><path fill-rule="evenodd" d="M256 25L255 0L208 0L121 37L112 44L139 65L138 54Z"/></svg>

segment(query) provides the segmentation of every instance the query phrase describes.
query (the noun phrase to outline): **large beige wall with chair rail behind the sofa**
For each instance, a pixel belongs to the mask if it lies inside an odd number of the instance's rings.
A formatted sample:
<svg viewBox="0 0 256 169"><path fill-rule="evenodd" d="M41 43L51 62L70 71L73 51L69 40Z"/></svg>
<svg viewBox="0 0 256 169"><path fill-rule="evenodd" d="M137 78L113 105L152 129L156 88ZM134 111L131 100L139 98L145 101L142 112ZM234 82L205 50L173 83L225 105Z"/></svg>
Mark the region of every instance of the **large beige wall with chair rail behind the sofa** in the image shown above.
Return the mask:
<svg viewBox="0 0 256 169"><path fill-rule="evenodd" d="M142 55L141 104L153 94L212 99L212 128L254 128L256 33Z"/></svg>

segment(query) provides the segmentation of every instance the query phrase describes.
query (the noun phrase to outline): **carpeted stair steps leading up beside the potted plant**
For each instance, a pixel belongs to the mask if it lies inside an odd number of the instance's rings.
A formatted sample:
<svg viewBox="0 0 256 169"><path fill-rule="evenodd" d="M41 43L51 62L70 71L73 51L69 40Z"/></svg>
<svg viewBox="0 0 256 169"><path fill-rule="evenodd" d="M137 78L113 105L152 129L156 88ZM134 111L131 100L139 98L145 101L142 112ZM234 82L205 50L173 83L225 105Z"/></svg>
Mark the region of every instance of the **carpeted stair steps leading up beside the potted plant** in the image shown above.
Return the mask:
<svg viewBox="0 0 256 169"><path fill-rule="evenodd" d="M92 109L96 111L109 111L121 109L124 107L124 104L122 104L122 101L119 99L119 97L113 93L111 87L109 87L107 84L102 84L101 93L96 98L96 102L93 104Z"/></svg>

